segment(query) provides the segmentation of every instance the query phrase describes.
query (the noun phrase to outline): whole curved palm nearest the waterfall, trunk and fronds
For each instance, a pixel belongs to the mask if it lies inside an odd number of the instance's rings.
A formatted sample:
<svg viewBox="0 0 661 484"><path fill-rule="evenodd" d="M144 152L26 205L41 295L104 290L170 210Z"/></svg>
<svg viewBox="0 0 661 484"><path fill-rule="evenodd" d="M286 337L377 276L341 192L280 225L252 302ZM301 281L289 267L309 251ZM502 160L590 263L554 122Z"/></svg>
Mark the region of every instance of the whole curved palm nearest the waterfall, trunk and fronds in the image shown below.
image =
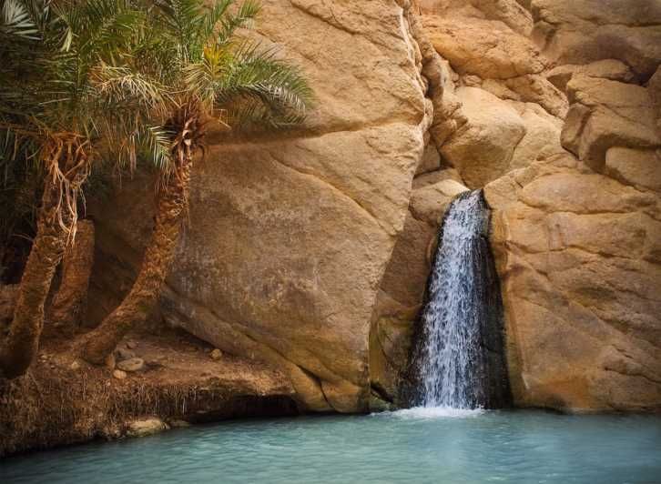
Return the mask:
<svg viewBox="0 0 661 484"><path fill-rule="evenodd" d="M169 86L173 108L171 170L159 180L154 231L133 287L122 303L86 338L83 358L101 364L130 328L156 306L188 210L190 172L203 150L209 123L232 130L300 124L311 91L298 69L237 35L252 25L259 4L219 0L154 0L143 69Z"/></svg>

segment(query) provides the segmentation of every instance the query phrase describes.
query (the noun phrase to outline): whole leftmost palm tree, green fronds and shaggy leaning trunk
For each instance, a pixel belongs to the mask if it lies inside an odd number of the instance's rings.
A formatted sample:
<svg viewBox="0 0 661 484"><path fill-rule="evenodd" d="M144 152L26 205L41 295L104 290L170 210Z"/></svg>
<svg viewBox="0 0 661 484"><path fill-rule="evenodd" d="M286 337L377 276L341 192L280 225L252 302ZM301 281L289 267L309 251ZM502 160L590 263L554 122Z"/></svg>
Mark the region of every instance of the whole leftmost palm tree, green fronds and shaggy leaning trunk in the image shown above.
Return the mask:
<svg viewBox="0 0 661 484"><path fill-rule="evenodd" d="M141 146L158 164L169 158L167 138L148 124L165 106L164 91L137 71L132 55L144 12L127 0L0 2L3 158L32 160L43 173L36 237L0 347L0 374L15 378L38 349L46 296L76 235L93 164L110 150L134 166Z"/></svg>

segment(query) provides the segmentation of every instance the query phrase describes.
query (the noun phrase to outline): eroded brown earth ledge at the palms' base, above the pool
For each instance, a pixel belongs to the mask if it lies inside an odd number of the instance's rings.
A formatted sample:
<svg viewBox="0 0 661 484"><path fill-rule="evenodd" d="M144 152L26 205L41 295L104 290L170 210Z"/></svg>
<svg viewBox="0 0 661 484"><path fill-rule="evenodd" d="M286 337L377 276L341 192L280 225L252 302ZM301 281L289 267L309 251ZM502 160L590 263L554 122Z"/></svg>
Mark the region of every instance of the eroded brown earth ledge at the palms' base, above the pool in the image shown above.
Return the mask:
<svg viewBox="0 0 661 484"><path fill-rule="evenodd" d="M116 354L137 355L140 365L127 372L88 366L72 356L69 342L43 342L25 377L0 382L0 457L189 423L298 413L289 378L275 368L211 358L208 344L172 331L129 341L133 349L122 343Z"/></svg>

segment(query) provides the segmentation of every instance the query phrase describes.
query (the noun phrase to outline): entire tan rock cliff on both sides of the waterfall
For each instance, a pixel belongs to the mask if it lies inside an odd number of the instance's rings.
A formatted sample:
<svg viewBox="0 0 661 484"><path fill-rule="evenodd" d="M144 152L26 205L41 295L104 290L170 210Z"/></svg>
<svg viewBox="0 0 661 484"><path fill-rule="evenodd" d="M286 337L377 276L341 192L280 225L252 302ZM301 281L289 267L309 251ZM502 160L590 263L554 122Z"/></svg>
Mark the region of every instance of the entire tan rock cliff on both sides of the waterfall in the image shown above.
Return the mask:
<svg viewBox="0 0 661 484"><path fill-rule="evenodd" d="M213 137L158 318L282 369L304 408L383 408L445 208L484 187L515 403L661 408L658 2L264 10L256 35L317 106L296 132ZM97 217L99 314L130 284L152 193L124 180L121 212Z"/></svg>

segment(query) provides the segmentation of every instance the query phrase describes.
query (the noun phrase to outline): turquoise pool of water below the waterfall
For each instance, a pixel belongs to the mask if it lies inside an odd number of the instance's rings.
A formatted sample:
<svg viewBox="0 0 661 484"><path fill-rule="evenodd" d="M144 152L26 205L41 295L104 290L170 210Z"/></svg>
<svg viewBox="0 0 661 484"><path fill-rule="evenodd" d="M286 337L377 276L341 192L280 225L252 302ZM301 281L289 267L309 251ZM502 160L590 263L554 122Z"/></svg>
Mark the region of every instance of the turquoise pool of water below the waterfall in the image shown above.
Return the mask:
<svg viewBox="0 0 661 484"><path fill-rule="evenodd" d="M0 461L5 483L661 483L661 417L420 408L242 420Z"/></svg>

